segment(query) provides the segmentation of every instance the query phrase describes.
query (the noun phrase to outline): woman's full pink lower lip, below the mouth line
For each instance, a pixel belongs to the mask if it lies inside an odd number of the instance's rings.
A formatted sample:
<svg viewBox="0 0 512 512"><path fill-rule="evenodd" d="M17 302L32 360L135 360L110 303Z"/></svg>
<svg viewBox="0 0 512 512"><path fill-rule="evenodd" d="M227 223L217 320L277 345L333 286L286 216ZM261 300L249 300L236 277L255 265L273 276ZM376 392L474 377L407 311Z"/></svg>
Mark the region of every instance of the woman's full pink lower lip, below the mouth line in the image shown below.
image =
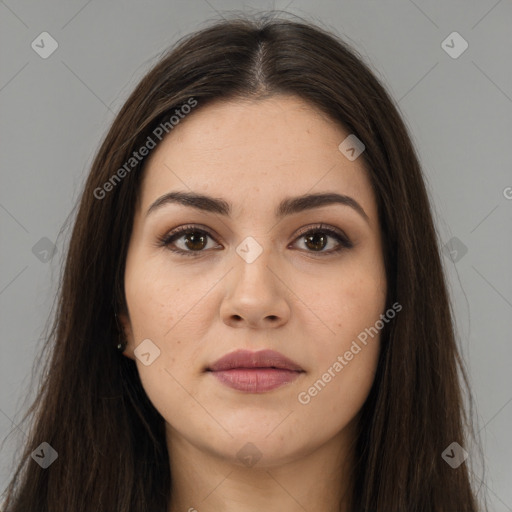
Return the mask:
<svg viewBox="0 0 512 512"><path fill-rule="evenodd" d="M264 393L292 382L303 372L280 368L233 368L211 373L230 388Z"/></svg>

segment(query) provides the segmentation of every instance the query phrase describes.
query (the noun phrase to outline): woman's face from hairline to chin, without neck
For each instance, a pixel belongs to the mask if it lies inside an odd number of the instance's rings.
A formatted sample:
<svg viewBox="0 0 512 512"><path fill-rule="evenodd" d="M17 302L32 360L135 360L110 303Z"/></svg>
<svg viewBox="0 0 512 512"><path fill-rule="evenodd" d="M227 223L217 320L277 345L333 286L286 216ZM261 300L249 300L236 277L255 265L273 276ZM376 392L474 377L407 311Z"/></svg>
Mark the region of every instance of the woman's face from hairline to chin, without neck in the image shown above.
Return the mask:
<svg viewBox="0 0 512 512"><path fill-rule="evenodd" d="M386 279L362 158L338 148L348 135L278 95L199 103L150 155L122 320L168 443L272 466L355 424L380 331L360 340L384 313Z"/></svg>

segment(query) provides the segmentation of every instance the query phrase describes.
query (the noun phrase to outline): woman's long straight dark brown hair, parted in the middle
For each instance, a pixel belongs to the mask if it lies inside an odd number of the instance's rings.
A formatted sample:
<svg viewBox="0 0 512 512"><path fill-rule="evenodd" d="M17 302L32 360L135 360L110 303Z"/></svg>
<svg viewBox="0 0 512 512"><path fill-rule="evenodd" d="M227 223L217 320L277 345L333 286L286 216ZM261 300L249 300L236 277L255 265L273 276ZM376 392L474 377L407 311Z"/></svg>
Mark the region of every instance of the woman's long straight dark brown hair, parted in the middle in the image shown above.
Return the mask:
<svg viewBox="0 0 512 512"><path fill-rule="evenodd" d="M382 332L375 382L361 411L351 510L477 510L468 461L454 469L441 456L452 442L467 446L471 421L461 386L467 379L407 128L344 41L308 22L264 16L216 22L179 41L141 80L106 135L79 203L48 333L47 370L25 416L31 428L5 512L167 510L172 475L164 419L134 361L115 349L145 160L110 181L108 192L98 190L191 98L197 110L221 98L280 93L309 101L365 144L387 306L402 305ZM58 452L47 469L30 456L43 441Z"/></svg>

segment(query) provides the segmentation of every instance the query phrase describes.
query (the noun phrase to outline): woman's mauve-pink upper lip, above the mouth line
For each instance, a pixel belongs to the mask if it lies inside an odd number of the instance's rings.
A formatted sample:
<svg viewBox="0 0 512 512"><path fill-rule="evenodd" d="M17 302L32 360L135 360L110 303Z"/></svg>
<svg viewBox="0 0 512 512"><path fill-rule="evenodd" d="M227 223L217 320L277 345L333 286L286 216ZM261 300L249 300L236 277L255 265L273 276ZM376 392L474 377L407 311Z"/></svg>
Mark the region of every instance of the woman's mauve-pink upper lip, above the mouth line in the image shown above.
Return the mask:
<svg viewBox="0 0 512 512"><path fill-rule="evenodd" d="M275 350L260 350L258 352L235 350L215 361L206 370L218 372L233 368L279 368L304 371L297 363Z"/></svg>

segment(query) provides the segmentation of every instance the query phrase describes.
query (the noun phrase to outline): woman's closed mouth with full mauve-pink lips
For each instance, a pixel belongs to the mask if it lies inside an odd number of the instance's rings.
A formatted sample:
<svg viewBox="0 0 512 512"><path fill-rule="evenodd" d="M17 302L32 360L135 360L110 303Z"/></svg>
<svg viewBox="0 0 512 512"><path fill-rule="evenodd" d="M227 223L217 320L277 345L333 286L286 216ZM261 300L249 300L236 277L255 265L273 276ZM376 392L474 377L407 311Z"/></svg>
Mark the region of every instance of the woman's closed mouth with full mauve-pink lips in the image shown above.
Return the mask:
<svg viewBox="0 0 512 512"><path fill-rule="evenodd" d="M246 393L264 393L289 384L305 370L273 350L237 350L220 358L205 370L219 382Z"/></svg>

